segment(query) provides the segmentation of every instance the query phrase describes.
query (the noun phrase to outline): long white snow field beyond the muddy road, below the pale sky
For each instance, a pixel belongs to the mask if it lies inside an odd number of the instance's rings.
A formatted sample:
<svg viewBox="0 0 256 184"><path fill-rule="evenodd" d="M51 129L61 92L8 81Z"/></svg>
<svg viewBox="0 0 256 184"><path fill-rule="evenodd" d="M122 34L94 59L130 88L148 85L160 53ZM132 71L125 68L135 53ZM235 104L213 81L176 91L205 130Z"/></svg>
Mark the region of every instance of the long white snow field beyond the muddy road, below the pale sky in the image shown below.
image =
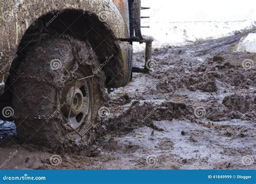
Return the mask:
<svg viewBox="0 0 256 184"><path fill-rule="evenodd" d="M215 22L151 22L151 28L143 29L143 35L154 37L153 48L183 46L198 40L218 39L251 29L256 22L215 21ZM135 52L145 50L145 44L134 43Z"/></svg>

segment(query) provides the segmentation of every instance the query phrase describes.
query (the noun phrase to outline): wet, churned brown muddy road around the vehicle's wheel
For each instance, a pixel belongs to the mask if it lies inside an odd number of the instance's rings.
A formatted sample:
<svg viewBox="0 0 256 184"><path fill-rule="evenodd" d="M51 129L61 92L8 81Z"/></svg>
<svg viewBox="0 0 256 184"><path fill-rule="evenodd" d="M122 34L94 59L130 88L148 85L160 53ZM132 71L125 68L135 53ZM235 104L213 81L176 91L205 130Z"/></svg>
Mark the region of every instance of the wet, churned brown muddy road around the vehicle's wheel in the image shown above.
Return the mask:
<svg viewBox="0 0 256 184"><path fill-rule="evenodd" d="M19 144L0 123L4 169L255 169L255 53L242 36L153 51L155 70L110 94L109 114L89 150L51 153ZM143 53L133 65L143 65Z"/></svg>

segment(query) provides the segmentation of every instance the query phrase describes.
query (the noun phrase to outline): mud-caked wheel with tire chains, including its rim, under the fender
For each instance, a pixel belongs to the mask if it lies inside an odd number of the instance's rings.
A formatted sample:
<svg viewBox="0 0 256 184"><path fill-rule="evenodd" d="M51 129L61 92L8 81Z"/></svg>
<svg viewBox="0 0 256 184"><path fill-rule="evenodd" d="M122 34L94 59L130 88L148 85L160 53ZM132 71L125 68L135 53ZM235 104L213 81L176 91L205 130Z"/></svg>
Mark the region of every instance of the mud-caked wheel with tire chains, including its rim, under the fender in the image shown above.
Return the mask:
<svg viewBox="0 0 256 184"><path fill-rule="evenodd" d="M105 76L98 69L91 46L69 37L44 40L28 53L14 86L19 139L53 151L90 145L106 98Z"/></svg>

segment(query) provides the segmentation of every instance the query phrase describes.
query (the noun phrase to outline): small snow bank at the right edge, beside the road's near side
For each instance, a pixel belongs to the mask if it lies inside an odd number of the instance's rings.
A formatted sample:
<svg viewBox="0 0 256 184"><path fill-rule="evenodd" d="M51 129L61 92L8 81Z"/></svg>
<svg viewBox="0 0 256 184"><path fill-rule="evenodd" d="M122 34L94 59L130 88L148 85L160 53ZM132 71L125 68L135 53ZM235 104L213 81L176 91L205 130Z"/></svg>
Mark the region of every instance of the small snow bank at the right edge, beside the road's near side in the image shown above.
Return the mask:
<svg viewBox="0 0 256 184"><path fill-rule="evenodd" d="M242 38L238 44L238 52L256 52L256 33L250 33Z"/></svg>

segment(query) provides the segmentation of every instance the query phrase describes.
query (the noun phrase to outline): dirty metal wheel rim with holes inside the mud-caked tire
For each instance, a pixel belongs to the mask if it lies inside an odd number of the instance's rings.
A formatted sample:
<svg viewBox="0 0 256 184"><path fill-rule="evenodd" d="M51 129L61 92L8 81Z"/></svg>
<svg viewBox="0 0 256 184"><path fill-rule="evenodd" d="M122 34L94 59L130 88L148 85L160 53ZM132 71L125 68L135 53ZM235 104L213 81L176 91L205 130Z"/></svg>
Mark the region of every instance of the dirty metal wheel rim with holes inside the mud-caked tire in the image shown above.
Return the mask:
<svg viewBox="0 0 256 184"><path fill-rule="evenodd" d="M78 71L75 73L77 79L84 78L85 75ZM65 84L62 92L61 103L64 106L63 112L68 120L68 124L77 130L89 120L91 111L91 93L88 80L76 79Z"/></svg>

